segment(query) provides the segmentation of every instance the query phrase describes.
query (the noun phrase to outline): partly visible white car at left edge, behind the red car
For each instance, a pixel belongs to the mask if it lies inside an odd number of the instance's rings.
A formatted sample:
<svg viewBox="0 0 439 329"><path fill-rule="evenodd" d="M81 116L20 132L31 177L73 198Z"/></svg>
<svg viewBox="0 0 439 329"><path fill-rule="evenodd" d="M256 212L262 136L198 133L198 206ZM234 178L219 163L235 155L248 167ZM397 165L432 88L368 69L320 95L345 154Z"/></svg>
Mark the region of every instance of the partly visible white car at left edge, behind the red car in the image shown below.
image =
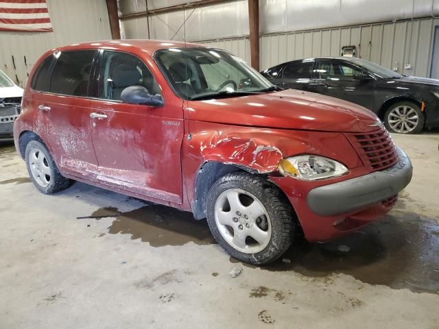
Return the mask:
<svg viewBox="0 0 439 329"><path fill-rule="evenodd" d="M0 138L12 138L14 121L21 111L23 89L0 71Z"/></svg>

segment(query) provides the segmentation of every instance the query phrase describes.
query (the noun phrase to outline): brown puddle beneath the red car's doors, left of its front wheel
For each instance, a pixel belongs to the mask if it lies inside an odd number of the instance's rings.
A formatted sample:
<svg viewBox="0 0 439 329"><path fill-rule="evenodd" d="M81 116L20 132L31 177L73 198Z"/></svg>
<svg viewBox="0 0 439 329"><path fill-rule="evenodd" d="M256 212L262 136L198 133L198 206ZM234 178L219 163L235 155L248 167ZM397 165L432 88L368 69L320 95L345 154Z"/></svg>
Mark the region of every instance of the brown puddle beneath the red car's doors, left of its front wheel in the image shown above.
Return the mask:
<svg viewBox="0 0 439 329"><path fill-rule="evenodd" d="M128 212L112 207L101 208L88 218L99 220L103 217L116 217L108 233L132 234L132 240L141 239L152 247L184 245L191 241L197 245L215 243L205 220L197 221L191 212L167 206L147 205Z"/></svg>

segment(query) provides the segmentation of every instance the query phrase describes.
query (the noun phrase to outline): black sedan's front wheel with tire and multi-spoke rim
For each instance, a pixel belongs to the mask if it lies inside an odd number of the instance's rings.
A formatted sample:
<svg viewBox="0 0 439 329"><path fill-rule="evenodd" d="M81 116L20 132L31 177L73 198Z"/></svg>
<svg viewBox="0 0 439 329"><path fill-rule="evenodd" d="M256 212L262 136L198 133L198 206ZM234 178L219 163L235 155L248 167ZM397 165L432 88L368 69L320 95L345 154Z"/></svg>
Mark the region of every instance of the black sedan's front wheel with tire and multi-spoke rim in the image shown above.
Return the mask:
<svg viewBox="0 0 439 329"><path fill-rule="evenodd" d="M389 132L419 134L423 130L424 123L423 112L418 104L412 101L394 103L384 114L384 124Z"/></svg>

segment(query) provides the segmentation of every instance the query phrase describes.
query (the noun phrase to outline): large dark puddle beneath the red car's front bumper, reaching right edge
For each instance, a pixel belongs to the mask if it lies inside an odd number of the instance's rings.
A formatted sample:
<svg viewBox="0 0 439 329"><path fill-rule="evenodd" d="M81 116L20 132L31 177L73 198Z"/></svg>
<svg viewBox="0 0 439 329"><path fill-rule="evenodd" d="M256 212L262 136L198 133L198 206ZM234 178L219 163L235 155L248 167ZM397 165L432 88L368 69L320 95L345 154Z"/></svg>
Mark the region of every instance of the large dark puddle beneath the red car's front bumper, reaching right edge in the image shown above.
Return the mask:
<svg viewBox="0 0 439 329"><path fill-rule="evenodd" d="M291 263L284 263L283 258ZM241 263L235 258L230 262ZM260 268L309 277L344 273L369 284L439 293L439 224L414 213L392 212L335 241L298 239L280 260Z"/></svg>

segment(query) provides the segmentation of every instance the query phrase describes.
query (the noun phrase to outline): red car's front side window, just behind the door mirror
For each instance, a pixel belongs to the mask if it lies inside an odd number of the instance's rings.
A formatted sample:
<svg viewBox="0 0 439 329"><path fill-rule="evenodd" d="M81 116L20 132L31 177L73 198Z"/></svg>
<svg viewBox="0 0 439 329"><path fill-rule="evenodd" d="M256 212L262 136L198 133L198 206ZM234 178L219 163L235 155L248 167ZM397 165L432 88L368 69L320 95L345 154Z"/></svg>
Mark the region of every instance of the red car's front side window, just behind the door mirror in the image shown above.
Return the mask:
<svg viewBox="0 0 439 329"><path fill-rule="evenodd" d="M123 89L143 86L161 95L160 86L144 62L130 53L104 51L99 74L99 98L121 100Z"/></svg>

